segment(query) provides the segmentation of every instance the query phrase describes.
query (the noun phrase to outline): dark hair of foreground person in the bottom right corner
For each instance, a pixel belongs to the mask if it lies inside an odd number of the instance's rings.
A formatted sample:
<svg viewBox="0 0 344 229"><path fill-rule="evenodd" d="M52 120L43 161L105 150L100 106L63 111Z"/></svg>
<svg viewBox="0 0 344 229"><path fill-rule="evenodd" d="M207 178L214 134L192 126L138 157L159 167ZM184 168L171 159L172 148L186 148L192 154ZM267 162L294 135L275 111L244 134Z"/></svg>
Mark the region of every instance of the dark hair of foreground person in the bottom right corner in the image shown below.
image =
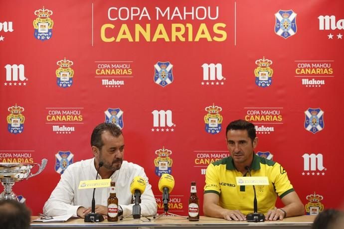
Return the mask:
<svg viewBox="0 0 344 229"><path fill-rule="evenodd" d="M337 223L343 220L343 218L344 212L336 209L326 209L319 213L314 220L311 229L335 229Z"/></svg>

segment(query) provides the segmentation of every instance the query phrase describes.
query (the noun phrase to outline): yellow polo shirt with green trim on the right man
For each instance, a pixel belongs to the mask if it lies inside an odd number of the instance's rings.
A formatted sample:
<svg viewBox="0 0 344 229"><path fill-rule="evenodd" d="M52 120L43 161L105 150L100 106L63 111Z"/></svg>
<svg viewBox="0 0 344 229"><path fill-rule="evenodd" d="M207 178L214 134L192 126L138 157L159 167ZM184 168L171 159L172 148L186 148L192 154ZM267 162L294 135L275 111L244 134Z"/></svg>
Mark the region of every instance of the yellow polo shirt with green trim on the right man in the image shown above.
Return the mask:
<svg viewBox="0 0 344 229"><path fill-rule="evenodd" d="M255 185L258 212L266 214L275 208L277 195L283 198L294 192L287 172L277 162L260 157L253 153L251 164L252 176L267 176L269 185ZM205 174L204 193L216 193L220 196L219 205L229 210L240 210L244 215L253 212L253 187L238 186L236 177L249 176L242 174L234 166L232 157L226 157L208 165Z"/></svg>

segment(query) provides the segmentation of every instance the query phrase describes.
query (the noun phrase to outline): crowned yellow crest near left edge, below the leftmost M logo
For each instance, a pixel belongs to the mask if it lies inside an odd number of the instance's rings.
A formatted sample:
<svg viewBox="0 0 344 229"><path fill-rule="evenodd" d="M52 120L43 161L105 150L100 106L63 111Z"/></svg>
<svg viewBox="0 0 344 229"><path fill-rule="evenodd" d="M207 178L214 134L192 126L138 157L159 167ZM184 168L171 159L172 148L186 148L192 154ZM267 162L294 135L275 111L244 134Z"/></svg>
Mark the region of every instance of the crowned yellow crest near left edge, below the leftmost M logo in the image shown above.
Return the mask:
<svg viewBox="0 0 344 229"><path fill-rule="evenodd" d="M24 130L25 116L21 114L24 108L15 105L9 107L8 111L10 112L10 114L7 115L8 132L14 134L21 133Z"/></svg>

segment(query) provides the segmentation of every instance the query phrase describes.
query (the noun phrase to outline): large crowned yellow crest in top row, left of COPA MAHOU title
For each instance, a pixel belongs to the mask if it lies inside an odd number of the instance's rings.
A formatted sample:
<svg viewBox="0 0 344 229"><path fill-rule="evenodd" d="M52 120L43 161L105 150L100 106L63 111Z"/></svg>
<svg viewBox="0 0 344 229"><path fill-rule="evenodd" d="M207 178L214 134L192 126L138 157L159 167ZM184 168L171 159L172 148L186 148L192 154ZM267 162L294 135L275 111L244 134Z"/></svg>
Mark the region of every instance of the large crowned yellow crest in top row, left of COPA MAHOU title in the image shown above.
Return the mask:
<svg viewBox="0 0 344 229"><path fill-rule="evenodd" d="M34 11L34 14L37 16L33 20L34 37L41 41L49 40L52 35L52 26L54 25L54 21L49 18L52 15L52 11L44 9L43 6L42 9Z"/></svg>

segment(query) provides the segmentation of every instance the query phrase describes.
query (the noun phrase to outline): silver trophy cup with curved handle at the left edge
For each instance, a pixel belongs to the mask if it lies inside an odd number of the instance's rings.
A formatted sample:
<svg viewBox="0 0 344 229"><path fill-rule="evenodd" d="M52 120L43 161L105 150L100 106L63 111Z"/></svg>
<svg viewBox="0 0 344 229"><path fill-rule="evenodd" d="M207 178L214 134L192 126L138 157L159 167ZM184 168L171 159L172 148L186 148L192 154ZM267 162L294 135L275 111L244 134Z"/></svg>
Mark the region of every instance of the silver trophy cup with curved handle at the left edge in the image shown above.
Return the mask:
<svg viewBox="0 0 344 229"><path fill-rule="evenodd" d="M42 159L41 164L32 163L0 163L0 180L3 186L3 192L0 194L0 199L18 200L17 196L12 192L12 186L15 182L29 179L40 174L48 162L47 159ZM31 169L37 165L38 171L35 174L30 174Z"/></svg>

